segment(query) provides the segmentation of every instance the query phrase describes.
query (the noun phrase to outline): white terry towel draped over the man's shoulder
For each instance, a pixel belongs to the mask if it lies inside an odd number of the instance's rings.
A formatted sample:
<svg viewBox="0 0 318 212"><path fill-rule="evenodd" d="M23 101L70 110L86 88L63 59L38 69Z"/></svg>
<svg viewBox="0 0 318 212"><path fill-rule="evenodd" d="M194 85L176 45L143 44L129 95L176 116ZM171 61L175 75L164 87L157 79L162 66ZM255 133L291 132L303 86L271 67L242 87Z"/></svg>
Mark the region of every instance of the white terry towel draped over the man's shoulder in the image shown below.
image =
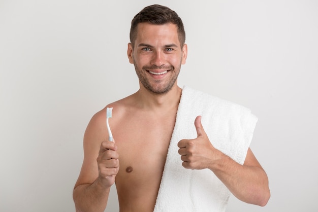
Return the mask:
<svg viewBox="0 0 318 212"><path fill-rule="evenodd" d="M179 103L155 212L225 211L230 191L209 169L182 166L177 144L197 137L194 120L202 125L212 145L243 164L257 117L238 104L184 87Z"/></svg>

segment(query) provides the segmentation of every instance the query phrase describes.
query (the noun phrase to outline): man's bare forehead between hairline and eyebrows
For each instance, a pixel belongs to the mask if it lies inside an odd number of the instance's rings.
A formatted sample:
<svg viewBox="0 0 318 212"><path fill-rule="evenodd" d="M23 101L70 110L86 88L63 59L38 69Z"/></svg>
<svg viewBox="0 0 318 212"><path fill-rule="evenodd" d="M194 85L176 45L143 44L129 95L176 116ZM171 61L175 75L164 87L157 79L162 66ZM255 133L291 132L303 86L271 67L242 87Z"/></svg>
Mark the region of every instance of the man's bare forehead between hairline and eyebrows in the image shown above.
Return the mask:
<svg viewBox="0 0 318 212"><path fill-rule="evenodd" d="M137 26L137 43L173 43L180 45L178 40L177 26L173 23L167 24L150 24L150 23L139 23ZM138 45L138 44L137 44Z"/></svg>

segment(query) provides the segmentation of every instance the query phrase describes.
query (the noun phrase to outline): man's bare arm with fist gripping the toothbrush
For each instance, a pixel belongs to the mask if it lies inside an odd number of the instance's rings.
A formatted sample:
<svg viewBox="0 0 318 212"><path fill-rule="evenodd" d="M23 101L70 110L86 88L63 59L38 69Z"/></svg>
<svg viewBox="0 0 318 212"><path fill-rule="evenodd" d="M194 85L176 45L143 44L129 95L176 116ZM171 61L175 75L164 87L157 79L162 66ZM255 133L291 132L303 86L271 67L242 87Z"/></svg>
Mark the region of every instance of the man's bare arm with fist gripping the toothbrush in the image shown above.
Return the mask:
<svg viewBox="0 0 318 212"><path fill-rule="evenodd" d="M104 123L103 113L98 113L85 131L84 161L73 191L76 211L104 211L119 170L115 143L101 142L107 137Z"/></svg>

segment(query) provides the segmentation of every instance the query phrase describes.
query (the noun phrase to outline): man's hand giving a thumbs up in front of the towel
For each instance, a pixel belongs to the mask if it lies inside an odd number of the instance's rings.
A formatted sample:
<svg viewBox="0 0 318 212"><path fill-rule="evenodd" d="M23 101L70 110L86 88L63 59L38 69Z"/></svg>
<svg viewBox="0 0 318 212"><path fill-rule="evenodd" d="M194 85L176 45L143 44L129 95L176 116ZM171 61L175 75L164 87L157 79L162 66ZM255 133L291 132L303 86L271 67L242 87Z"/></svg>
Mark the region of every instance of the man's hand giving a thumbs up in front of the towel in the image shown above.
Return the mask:
<svg viewBox="0 0 318 212"><path fill-rule="evenodd" d="M182 166L189 169L209 168L213 163L217 151L205 133L201 124L201 116L195 120L198 137L195 139L182 139L178 143Z"/></svg>

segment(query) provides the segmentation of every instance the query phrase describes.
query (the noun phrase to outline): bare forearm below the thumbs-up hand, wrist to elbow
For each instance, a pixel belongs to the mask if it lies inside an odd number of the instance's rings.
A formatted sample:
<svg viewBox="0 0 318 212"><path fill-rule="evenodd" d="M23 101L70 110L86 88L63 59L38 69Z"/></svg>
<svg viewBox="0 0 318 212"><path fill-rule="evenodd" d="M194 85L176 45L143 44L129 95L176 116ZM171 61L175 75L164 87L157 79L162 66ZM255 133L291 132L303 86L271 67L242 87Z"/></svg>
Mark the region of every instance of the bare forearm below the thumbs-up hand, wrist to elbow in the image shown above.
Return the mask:
<svg viewBox="0 0 318 212"><path fill-rule="evenodd" d="M256 205L266 205L269 197L268 178L258 166L240 165L219 152L218 160L209 167L238 199Z"/></svg>

